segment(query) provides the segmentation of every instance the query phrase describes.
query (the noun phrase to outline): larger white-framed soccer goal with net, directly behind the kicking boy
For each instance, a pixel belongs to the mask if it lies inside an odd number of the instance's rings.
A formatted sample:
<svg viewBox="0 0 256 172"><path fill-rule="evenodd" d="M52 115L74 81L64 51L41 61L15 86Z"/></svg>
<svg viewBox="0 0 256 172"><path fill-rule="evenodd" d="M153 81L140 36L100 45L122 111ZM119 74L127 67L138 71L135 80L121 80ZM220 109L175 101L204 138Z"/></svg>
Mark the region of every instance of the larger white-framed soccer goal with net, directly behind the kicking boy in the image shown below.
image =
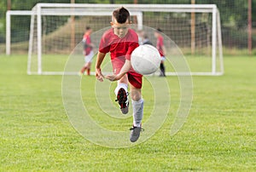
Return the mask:
<svg viewBox="0 0 256 172"><path fill-rule="evenodd" d="M122 6L131 12L131 20L134 24L131 28L135 31L143 29L147 32L154 46L156 44L154 31L157 28L162 30L166 59L175 58L172 44L177 45L191 71L179 73L223 74L221 27L216 5L122 4ZM62 75L68 56L77 51L76 55L81 59L80 64L76 64L77 68L65 74L78 74L79 67L84 65L83 48L81 46L79 48L79 44L85 26L90 26L94 31L91 40L96 45L94 49L96 53L102 33L110 26L112 11L119 7L119 4L38 3L32 9L27 73ZM77 50L78 48L80 50ZM166 60L166 74L177 75L168 60Z"/></svg>

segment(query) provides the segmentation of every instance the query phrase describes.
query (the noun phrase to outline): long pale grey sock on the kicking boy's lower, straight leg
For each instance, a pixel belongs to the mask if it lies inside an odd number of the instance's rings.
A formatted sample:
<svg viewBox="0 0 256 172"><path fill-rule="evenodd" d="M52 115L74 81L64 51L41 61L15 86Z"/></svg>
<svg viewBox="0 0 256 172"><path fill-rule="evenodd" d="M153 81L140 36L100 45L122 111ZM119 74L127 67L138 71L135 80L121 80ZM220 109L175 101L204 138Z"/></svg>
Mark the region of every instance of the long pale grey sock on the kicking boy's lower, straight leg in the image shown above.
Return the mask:
<svg viewBox="0 0 256 172"><path fill-rule="evenodd" d="M144 100L135 101L131 100L132 108L133 108L133 126L140 127L143 121L143 105Z"/></svg>

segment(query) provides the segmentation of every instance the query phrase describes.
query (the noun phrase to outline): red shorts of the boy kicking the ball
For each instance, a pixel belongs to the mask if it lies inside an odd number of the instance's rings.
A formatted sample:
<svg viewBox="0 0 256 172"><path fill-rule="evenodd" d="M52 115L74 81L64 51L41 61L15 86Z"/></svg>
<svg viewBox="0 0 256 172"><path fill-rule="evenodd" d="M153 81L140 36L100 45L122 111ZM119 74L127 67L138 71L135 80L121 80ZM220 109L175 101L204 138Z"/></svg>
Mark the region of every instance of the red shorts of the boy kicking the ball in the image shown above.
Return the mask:
<svg viewBox="0 0 256 172"><path fill-rule="evenodd" d="M119 74L124 64L125 64L124 61L112 60L113 73L115 75ZM127 72L127 77L128 77L129 83L131 83L132 86L134 86L136 89L142 89L143 75L131 69L130 72Z"/></svg>

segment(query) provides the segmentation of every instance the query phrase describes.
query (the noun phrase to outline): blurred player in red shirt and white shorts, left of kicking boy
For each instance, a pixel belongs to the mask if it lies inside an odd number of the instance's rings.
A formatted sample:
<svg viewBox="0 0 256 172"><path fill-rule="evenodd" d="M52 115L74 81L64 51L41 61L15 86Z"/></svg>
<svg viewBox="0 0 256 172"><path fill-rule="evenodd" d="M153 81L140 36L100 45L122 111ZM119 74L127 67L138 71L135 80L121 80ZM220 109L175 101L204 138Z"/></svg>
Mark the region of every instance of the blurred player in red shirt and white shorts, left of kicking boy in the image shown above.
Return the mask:
<svg viewBox="0 0 256 172"><path fill-rule="evenodd" d="M84 37L83 37L83 43L84 43L84 66L80 70L81 74L84 74L84 71L87 70L87 75L90 75L90 64L91 60L93 58L93 47L94 44L91 43L90 40L90 34L92 33L92 29L90 26L87 26L85 28Z"/></svg>

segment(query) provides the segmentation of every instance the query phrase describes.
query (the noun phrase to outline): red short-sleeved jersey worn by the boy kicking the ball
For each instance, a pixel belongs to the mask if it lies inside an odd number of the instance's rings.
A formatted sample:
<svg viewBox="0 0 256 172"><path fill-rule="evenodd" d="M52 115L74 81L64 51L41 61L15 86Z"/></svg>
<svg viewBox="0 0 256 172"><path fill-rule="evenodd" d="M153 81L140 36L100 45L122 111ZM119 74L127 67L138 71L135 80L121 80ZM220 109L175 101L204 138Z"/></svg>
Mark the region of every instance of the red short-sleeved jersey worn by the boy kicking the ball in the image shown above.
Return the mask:
<svg viewBox="0 0 256 172"><path fill-rule="evenodd" d="M139 46L137 33L129 29L125 37L118 37L113 33L113 28L109 29L102 36L99 46L101 53L110 52L111 60L131 60L131 53Z"/></svg>

